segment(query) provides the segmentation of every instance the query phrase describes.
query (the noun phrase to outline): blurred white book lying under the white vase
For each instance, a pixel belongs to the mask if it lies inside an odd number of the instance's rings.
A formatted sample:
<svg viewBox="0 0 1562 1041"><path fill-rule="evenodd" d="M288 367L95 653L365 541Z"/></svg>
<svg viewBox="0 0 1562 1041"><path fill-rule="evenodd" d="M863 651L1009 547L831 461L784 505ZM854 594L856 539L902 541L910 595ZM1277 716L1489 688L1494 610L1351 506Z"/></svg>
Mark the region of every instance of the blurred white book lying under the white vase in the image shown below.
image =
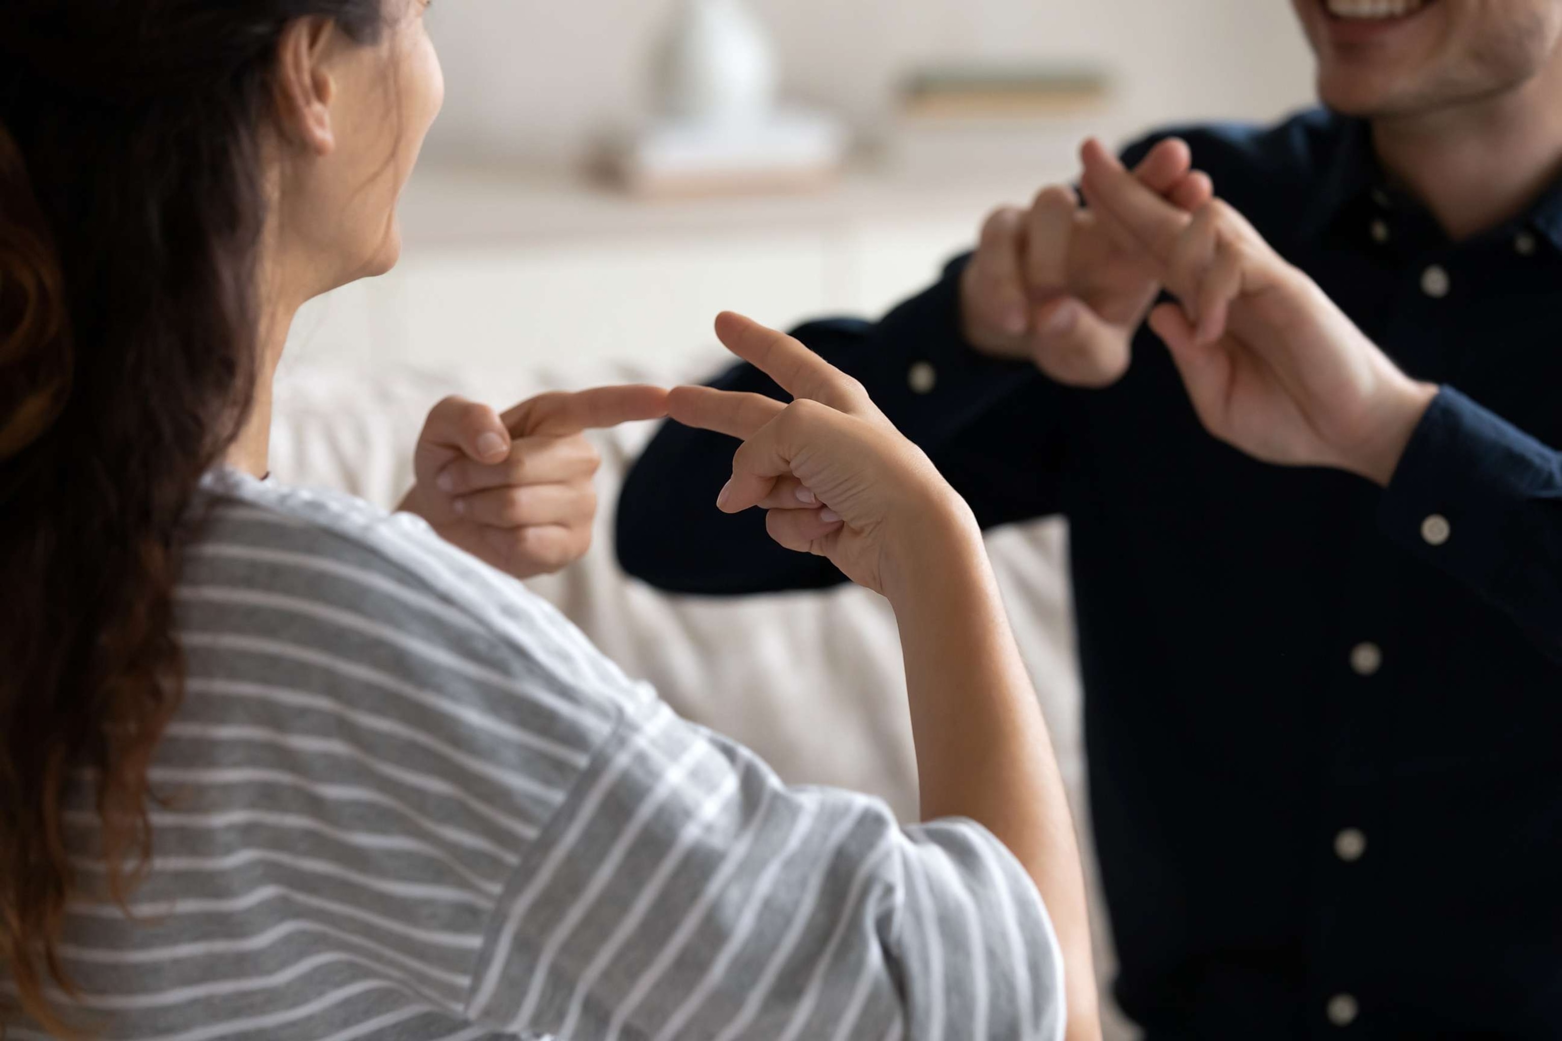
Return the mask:
<svg viewBox="0 0 1562 1041"><path fill-rule="evenodd" d="M740 122L656 122L619 134L601 158L604 172L634 195L689 198L825 187L848 145L840 120L781 108Z"/></svg>

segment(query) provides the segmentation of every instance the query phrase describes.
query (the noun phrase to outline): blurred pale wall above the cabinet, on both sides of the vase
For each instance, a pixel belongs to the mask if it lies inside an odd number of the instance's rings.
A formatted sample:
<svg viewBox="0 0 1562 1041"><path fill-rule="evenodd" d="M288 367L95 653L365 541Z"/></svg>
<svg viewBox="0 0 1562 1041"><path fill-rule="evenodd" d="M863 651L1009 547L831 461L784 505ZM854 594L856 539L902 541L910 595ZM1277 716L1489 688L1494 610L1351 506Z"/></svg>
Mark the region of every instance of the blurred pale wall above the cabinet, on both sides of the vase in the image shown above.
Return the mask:
<svg viewBox="0 0 1562 1041"><path fill-rule="evenodd" d="M645 56L678 0L439 0L450 98L430 151L572 159L640 105ZM753 0L789 91L870 123L918 61L1100 61L1112 125L1270 119L1307 100L1289 0Z"/></svg>

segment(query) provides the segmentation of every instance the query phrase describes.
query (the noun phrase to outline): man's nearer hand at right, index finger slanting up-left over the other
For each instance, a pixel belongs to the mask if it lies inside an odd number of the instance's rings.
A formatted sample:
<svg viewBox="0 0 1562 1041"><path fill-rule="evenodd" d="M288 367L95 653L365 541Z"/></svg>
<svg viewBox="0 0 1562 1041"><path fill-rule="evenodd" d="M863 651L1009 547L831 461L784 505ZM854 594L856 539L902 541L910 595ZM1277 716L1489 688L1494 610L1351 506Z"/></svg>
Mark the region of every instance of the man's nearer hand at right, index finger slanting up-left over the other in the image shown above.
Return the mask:
<svg viewBox="0 0 1562 1041"><path fill-rule="evenodd" d="M1150 315L1200 420L1256 459L1336 467L1387 485L1437 389L1401 373L1242 214L1189 214L1132 178L1100 142L1084 194L1179 301Z"/></svg>

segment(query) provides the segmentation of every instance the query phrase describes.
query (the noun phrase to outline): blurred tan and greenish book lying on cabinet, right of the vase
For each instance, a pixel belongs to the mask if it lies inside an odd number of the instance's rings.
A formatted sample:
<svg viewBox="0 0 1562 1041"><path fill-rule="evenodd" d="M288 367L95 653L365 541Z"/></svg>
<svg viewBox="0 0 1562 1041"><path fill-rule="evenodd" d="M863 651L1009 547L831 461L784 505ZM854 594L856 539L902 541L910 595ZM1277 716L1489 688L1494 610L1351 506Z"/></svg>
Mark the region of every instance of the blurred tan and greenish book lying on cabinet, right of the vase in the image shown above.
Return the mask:
<svg viewBox="0 0 1562 1041"><path fill-rule="evenodd" d="M1048 119L1103 109L1112 80L1098 69L1054 66L940 66L914 72L901 114L926 120Z"/></svg>

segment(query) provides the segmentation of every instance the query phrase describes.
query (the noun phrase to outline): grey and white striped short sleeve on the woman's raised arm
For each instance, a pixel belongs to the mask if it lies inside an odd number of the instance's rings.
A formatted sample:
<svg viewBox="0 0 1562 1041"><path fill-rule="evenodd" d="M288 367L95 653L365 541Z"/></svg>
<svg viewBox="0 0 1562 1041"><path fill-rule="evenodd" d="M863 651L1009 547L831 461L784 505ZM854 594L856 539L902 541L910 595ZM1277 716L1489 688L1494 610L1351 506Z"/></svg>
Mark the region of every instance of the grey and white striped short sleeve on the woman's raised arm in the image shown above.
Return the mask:
<svg viewBox="0 0 1562 1041"><path fill-rule="evenodd" d="M661 702L629 712L511 877L467 1014L517 1033L1061 1038L1034 883L970 821L789 788Z"/></svg>

